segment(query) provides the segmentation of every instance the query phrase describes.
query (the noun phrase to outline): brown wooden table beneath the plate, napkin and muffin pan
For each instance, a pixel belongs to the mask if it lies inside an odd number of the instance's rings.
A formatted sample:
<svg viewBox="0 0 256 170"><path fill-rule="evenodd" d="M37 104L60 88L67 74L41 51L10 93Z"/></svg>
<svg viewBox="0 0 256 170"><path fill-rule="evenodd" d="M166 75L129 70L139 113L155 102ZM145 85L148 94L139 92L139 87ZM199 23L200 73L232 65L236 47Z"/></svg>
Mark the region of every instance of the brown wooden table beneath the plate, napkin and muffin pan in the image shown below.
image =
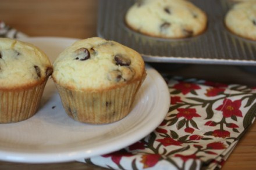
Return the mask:
<svg viewBox="0 0 256 170"><path fill-rule="evenodd" d="M30 36L88 38L97 36L95 0L0 0L0 20ZM152 64L155 68L159 64ZM256 68L200 64L172 64L169 74L256 86ZM159 70L166 71L166 70ZM0 161L0 169L104 169L80 162L20 164ZM256 169L256 124L251 126L223 169Z"/></svg>

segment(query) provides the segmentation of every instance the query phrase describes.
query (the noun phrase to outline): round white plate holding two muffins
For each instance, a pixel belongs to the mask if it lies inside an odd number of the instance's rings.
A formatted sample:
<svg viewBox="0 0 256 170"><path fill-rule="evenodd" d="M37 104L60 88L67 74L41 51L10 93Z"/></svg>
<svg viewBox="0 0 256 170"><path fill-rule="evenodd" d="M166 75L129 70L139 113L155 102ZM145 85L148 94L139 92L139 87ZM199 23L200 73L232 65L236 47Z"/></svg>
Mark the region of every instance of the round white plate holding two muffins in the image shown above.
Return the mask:
<svg viewBox="0 0 256 170"><path fill-rule="evenodd" d="M77 39L27 38L56 56ZM165 81L150 66L131 113L118 122L90 125L72 120L65 113L52 79L45 87L38 113L29 120L0 124L0 160L12 162L63 162L106 154L144 138L165 118L169 91Z"/></svg>

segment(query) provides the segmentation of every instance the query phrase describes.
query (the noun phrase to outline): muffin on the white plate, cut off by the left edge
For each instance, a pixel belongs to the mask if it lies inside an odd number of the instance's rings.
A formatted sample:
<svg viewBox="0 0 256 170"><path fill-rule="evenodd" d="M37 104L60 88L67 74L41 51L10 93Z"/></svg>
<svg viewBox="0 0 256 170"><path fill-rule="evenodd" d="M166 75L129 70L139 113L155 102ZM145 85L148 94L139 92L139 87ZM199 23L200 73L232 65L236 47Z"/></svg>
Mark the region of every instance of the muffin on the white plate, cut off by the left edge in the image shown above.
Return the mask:
<svg viewBox="0 0 256 170"><path fill-rule="evenodd" d="M0 123L33 116L52 73L42 50L26 42L0 38Z"/></svg>

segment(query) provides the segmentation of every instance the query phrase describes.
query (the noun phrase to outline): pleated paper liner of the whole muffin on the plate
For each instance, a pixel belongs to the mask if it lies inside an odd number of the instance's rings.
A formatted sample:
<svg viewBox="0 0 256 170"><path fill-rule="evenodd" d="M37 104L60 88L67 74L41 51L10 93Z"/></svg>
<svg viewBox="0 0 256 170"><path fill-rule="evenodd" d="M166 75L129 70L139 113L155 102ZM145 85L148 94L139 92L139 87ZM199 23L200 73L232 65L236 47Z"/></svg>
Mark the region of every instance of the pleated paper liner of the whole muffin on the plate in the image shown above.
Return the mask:
<svg viewBox="0 0 256 170"><path fill-rule="evenodd" d="M129 114L138 88L144 81L100 92L72 91L56 84L66 113L76 121L108 124Z"/></svg>

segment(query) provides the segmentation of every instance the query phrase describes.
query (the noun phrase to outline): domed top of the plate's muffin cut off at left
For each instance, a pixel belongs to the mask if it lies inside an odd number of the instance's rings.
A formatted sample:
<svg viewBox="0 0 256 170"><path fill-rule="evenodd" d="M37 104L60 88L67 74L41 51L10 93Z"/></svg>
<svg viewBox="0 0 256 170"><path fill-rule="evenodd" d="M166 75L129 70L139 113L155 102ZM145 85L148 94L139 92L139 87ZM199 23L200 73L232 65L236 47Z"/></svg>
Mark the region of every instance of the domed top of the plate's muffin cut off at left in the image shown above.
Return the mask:
<svg viewBox="0 0 256 170"><path fill-rule="evenodd" d="M1 90L34 86L51 73L51 63L42 50L16 39L0 38Z"/></svg>

